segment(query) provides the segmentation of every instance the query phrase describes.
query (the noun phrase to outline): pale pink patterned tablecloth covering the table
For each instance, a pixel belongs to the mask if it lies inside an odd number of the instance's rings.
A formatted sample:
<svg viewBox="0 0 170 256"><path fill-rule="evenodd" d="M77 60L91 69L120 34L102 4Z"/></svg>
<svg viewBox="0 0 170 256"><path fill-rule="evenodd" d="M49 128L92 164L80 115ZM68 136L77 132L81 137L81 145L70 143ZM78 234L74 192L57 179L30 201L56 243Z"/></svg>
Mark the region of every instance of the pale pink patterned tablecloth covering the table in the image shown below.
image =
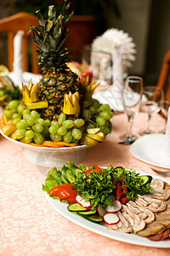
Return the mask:
<svg viewBox="0 0 170 256"><path fill-rule="evenodd" d="M144 129L146 116L139 113L133 132ZM149 164L130 153L130 145L122 145L120 135L127 128L124 113L111 119L113 130L104 143L88 148L81 164L86 166L123 166L136 171L155 174ZM152 120L161 131L163 119L156 114ZM79 226L55 211L42 192L42 183L49 168L26 160L23 148L0 136L0 255L170 255L170 248L144 247L101 236ZM80 164L80 163L79 163Z"/></svg>

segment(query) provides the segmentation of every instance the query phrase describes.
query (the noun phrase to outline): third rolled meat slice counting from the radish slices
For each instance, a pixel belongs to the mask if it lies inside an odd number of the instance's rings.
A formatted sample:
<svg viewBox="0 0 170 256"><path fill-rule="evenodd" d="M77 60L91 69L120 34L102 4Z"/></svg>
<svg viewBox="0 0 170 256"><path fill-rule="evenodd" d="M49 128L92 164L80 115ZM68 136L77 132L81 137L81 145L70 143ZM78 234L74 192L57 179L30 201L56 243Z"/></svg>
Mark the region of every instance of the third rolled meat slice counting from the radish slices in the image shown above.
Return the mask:
<svg viewBox="0 0 170 256"><path fill-rule="evenodd" d="M150 224L155 220L155 215L149 209L139 206L133 201L127 202L127 207L129 207L135 214L143 218L146 224Z"/></svg>

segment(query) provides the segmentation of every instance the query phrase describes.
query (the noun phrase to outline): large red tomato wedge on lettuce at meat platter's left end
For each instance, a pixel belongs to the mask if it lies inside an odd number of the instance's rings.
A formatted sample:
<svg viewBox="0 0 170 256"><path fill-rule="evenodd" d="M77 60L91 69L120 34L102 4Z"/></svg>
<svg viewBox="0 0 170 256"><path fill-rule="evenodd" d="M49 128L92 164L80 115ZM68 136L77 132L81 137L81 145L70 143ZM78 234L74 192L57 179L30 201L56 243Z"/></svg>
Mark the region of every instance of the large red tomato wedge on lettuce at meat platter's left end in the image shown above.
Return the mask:
<svg viewBox="0 0 170 256"><path fill-rule="evenodd" d="M55 186L53 189L49 190L49 195L57 196L60 200L66 200L70 204L77 202L77 189L74 189L70 183Z"/></svg>

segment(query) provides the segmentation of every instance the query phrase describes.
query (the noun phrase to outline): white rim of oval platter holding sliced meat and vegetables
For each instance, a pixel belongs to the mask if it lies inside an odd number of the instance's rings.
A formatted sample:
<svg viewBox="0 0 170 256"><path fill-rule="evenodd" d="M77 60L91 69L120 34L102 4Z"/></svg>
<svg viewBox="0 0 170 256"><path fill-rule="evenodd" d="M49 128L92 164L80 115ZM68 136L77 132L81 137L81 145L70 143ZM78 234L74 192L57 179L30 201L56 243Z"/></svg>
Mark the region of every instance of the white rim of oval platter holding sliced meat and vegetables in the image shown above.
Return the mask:
<svg viewBox="0 0 170 256"><path fill-rule="evenodd" d="M148 175L148 173L145 173L145 172L140 172L140 174ZM157 177L157 176L152 175L152 177ZM167 180L166 178L163 178L163 177L159 177L159 178L167 183L170 183L170 181ZM45 194L46 194L46 198L47 198L48 202L50 203L50 205L52 207L54 207L54 209L57 212L59 212L65 218L71 220L75 224L78 224L87 230L91 230L94 233L109 237L111 239L115 239L118 241L124 241L127 243L140 245L140 246L144 246L144 247L170 248L169 240L150 241L149 239L144 238L144 237L126 234L126 233L118 232L115 230L107 230L107 226L105 224L95 224L93 222L88 221L88 219L86 219L86 218L82 218L81 216L79 216L77 214L71 213L67 210L67 206L68 206L67 203L64 203L64 202L61 203L61 202L59 202L59 200L49 197L49 195L47 193L45 193Z"/></svg>

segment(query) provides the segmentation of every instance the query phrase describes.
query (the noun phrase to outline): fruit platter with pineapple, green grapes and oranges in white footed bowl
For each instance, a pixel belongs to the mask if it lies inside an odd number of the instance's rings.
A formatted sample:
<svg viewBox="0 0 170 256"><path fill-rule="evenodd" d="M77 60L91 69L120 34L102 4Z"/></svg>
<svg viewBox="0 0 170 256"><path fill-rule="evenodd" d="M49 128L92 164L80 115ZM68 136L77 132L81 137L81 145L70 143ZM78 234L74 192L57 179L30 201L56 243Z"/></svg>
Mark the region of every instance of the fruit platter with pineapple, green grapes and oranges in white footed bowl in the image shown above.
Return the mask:
<svg viewBox="0 0 170 256"><path fill-rule="evenodd" d="M73 15L65 17L69 7L65 1L57 15L54 5L49 6L48 19L37 11L39 25L31 25L29 32L38 46L42 79L22 84L21 99L8 102L0 120L3 137L22 145L29 160L44 166L53 166L57 158L61 165L65 159L77 163L86 156L86 148L103 143L111 133L113 111L93 98L99 86L93 72L71 70L65 44L69 34L65 25ZM44 163L49 152L52 160Z"/></svg>

